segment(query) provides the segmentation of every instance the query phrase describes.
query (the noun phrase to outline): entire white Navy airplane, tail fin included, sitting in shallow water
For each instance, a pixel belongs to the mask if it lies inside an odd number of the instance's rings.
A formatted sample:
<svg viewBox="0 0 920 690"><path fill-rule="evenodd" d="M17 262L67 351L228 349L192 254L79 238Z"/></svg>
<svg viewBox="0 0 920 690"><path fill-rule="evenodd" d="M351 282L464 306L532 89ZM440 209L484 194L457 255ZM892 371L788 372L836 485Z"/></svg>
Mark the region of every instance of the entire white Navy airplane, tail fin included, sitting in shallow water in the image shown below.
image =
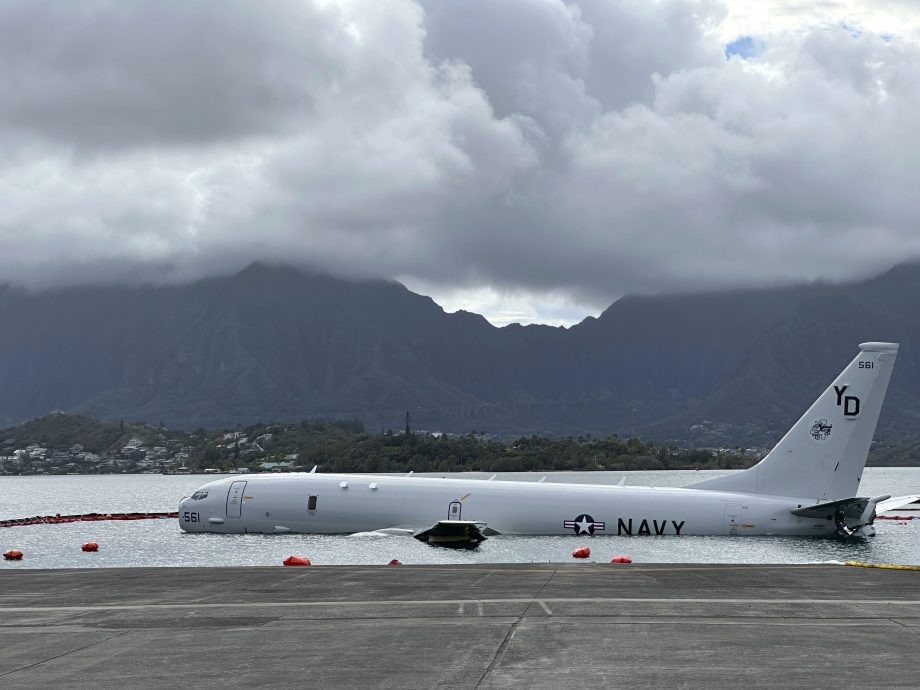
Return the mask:
<svg viewBox="0 0 920 690"><path fill-rule="evenodd" d="M455 546L494 534L871 536L876 510L895 506L886 503L889 496L856 493L898 345L859 349L757 465L686 488L313 468L213 481L182 500L179 524L187 532L221 534L411 534Z"/></svg>

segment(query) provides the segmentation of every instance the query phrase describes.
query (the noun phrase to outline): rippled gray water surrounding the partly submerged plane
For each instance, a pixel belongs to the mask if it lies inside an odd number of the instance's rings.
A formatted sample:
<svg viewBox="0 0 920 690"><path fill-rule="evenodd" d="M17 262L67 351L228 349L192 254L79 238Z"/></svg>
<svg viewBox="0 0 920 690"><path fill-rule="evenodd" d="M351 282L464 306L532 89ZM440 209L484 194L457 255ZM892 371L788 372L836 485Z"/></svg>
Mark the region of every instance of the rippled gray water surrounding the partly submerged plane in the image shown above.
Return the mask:
<svg viewBox="0 0 920 690"><path fill-rule="evenodd" d="M685 486L721 476L718 471L499 473L500 479ZM420 475L424 476L424 475ZM488 473L466 476L487 479ZM174 511L179 500L215 475L87 475L0 477L0 520L55 513ZM920 493L920 468L867 468L861 496ZM915 513L917 514L917 513ZM7 568L103 568L131 566L280 565L290 555L314 565L385 565L392 558L415 563L546 563L572 561L572 549L590 546L595 562L628 555L636 563L819 563L858 560L920 565L920 519L878 520L872 539L816 537L492 537L478 549L431 547L411 537L326 535L186 534L175 519L78 522L0 528L0 551L19 549ZM83 553L86 541L99 543Z"/></svg>

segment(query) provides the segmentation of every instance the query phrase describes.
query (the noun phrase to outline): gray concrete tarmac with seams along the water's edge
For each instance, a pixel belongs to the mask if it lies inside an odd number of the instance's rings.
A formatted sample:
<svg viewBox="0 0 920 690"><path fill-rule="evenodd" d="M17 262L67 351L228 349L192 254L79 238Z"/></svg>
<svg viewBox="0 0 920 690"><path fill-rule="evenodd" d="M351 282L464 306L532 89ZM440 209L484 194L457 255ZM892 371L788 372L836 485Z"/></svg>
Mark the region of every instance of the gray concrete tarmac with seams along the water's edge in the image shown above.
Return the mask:
<svg viewBox="0 0 920 690"><path fill-rule="evenodd" d="M0 567L2 687L916 688L920 572Z"/></svg>

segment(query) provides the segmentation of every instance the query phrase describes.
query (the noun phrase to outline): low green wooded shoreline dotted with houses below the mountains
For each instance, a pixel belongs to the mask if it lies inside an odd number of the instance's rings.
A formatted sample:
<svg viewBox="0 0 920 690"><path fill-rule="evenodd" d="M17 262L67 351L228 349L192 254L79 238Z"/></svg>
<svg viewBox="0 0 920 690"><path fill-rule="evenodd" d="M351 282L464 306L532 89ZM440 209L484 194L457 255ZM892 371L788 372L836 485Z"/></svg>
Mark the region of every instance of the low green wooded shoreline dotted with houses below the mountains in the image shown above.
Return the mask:
<svg viewBox="0 0 920 690"><path fill-rule="evenodd" d="M26 455L27 450L32 454ZM325 472L371 473L740 469L750 467L761 455L742 449L676 448L618 436L528 436L505 443L475 432L461 436L411 429L408 433L368 433L360 420L259 423L186 434L142 422L106 422L57 413L0 430L0 460L6 473L171 471L180 467L259 472L314 465ZM920 464L918 459L920 441L894 441L876 444L869 464L910 466Z"/></svg>

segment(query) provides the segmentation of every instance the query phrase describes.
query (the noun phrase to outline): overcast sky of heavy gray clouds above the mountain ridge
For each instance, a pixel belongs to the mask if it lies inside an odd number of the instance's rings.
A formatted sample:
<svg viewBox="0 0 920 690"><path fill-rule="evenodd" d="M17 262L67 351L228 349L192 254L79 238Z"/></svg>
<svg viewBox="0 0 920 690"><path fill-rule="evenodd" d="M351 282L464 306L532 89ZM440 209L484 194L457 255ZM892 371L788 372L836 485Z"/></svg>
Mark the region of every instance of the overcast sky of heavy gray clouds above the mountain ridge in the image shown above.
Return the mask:
<svg viewBox="0 0 920 690"><path fill-rule="evenodd" d="M3 0L0 281L256 259L493 323L920 257L882 0Z"/></svg>

